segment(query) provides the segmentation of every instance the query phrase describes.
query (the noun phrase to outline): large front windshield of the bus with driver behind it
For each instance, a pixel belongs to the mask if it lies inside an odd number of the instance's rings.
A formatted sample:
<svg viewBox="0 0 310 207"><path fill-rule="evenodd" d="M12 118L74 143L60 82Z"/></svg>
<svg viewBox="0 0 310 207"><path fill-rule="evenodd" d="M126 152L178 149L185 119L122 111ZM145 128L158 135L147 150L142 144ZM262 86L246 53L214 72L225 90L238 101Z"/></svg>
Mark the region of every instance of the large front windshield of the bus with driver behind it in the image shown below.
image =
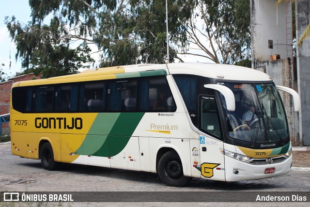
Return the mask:
<svg viewBox="0 0 310 207"><path fill-rule="evenodd" d="M273 83L220 83L233 91L235 111L226 110L229 137L253 143L279 142L289 136L286 114ZM224 96L222 96L222 101Z"/></svg>

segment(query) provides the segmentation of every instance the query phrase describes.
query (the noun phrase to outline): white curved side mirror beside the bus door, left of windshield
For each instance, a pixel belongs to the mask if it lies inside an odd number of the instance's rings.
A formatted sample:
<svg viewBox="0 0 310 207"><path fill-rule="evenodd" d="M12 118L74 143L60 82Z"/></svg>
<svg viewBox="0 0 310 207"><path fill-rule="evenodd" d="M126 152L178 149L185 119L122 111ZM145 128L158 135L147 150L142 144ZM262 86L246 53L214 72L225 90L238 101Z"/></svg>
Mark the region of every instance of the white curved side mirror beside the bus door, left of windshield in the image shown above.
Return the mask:
<svg viewBox="0 0 310 207"><path fill-rule="evenodd" d="M228 111L234 111L235 110L236 106L235 106L234 96L233 96L232 90L230 90L226 86L217 85L217 84L205 84L203 86L205 88L217 90L219 93L221 93L225 97L227 110Z"/></svg>

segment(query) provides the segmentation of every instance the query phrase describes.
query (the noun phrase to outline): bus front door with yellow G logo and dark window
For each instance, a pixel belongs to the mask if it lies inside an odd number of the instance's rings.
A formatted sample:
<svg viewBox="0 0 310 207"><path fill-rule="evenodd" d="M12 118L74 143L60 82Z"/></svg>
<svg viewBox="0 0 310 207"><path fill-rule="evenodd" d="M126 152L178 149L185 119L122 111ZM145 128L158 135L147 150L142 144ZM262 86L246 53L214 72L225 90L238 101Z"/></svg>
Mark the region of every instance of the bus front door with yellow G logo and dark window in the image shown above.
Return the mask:
<svg viewBox="0 0 310 207"><path fill-rule="evenodd" d="M215 96L200 96L199 127L207 136L200 135L202 178L225 181L223 140L217 100Z"/></svg>

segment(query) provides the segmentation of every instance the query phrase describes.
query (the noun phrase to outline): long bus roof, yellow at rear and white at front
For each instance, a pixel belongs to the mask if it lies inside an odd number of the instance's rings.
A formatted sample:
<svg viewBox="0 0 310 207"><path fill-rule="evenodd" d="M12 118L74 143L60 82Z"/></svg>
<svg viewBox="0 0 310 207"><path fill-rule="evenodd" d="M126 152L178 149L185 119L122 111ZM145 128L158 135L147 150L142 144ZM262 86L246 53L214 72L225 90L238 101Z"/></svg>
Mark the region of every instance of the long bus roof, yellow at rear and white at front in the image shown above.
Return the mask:
<svg viewBox="0 0 310 207"><path fill-rule="evenodd" d="M108 80L166 74L191 74L213 79L240 81L270 81L267 74L247 67L211 63L134 64L84 70L81 73L41 80L27 80L16 86L43 85L64 82Z"/></svg>

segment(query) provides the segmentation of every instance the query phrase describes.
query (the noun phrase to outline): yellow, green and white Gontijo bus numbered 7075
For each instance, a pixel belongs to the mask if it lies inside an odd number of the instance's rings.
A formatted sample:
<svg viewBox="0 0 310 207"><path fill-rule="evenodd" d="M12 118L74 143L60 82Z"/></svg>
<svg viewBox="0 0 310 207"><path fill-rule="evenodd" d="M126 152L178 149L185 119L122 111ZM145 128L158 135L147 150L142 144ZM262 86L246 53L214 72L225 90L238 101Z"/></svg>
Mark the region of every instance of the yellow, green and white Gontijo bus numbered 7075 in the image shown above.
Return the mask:
<svg viewBox="0 0 310 207"><path fill-rule="evenodd" d="M170 186L289 173L292 146L266 74L225 64L144 64L14 83L14 155L158 173Z"/></svg>

